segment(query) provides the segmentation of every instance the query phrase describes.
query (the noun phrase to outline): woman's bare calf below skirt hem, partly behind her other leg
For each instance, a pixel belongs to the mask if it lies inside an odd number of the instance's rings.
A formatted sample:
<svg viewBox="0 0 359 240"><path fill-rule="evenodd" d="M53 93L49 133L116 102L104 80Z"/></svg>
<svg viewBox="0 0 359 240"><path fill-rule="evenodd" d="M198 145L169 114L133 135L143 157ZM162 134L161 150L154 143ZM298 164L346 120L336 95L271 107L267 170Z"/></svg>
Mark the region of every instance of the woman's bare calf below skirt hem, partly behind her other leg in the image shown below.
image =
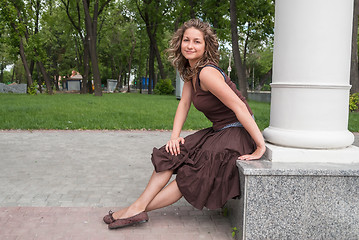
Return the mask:
<svg viewBox="0 0 359 240"><path fill-rule="evenodd" d="M182 193L178 189L177 181L173 180L147 205L146 212L167 207L177 202L181 197Z"/></svg>

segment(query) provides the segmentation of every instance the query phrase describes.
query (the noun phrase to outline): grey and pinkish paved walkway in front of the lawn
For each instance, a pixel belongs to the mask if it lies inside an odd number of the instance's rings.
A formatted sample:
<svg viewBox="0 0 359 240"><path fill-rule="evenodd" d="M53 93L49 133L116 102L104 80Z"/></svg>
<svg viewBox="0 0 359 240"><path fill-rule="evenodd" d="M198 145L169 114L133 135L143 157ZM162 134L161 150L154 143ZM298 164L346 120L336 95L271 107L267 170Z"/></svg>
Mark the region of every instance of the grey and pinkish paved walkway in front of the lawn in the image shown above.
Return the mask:
<svg viewBox="0 0 359 240"><path fill-rule="evenodd" d="M146 224L110 231L102 222L110 209L139 196L153 170L152 147L169 137L168 131L0 131L0 239L232 239L220 210L196 210L183 199L150 212Z"/></svg>

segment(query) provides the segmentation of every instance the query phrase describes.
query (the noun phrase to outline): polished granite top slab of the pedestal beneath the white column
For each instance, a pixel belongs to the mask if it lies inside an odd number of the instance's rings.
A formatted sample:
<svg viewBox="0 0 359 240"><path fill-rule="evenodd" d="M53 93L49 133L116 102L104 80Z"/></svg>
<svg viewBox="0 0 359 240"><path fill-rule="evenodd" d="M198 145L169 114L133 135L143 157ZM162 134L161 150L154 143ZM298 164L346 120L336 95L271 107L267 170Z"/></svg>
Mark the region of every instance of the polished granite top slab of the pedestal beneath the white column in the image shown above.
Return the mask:
<svg viewBox="0 0 359 240"><path fill-rule="evenodd" d="M359 176L359 163L285 163L268 160L237 160L237 167L244 175L250 176Z"/></svg>

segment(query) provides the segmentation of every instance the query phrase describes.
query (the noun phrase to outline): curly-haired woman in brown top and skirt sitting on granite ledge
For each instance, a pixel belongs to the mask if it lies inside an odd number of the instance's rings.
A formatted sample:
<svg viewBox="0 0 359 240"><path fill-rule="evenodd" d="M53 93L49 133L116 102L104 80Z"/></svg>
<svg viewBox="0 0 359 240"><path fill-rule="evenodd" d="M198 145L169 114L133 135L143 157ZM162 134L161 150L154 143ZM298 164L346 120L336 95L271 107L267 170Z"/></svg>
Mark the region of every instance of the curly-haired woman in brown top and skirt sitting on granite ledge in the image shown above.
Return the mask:
<svg viewBox="0 0 359 240"><path fill-rule="evenodd" d="M171 138L165 146L153 149L155 171L141 196L129 207L104 217L110 229L146 222L147 212L171 205L182 196L198 209L220 208L239 195L236 160L259 159L265 152L247 102L218 67L218 41L210 25L198 19L184 23L168 51L185 81ZM192 102L213 127L182 138ZM167 185L173 173L176 179Z"/></svg>

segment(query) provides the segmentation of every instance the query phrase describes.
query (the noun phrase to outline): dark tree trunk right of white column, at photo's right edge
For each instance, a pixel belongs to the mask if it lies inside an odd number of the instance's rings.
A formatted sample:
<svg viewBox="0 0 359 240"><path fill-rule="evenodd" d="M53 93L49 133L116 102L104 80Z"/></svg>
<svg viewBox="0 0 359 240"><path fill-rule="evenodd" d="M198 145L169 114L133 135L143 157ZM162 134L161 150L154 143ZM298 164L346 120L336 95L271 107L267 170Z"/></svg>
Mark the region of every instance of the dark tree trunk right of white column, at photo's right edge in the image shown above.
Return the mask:
<svg viewBox="0 0 359 240"><path fill-rule="evenodd" d="M359 72L358 72L358 17L359 17L359 0L354 0L353 16L353 36L352 36L352 55L350 66L350 84L351 93L359 92Z"/></svg>

